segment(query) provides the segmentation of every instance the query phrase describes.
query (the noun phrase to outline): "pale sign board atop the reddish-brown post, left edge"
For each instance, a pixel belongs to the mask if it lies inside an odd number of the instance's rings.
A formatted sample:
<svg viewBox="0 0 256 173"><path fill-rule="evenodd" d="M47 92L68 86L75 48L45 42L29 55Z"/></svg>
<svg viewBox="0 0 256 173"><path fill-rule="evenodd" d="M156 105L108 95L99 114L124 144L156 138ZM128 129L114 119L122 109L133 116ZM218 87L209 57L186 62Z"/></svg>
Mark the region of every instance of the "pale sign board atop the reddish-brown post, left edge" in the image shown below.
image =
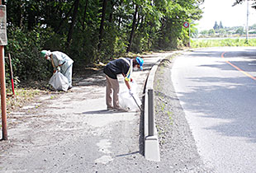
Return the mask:
<svg viewBox="0 0 256 173"><path fill-rule="evenodd" d="M0 45L7 45L7 8L0 5Z"/></svg>

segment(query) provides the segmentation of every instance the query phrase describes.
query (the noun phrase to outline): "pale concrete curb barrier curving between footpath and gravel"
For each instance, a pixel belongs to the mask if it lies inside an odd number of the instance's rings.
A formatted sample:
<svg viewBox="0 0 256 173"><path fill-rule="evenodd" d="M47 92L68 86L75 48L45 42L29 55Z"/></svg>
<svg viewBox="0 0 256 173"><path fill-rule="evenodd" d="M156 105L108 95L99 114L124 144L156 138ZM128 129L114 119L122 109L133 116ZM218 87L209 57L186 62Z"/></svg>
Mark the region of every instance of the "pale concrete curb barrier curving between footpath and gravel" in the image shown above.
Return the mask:
<svg viewBox="0 0 256 173"><path fill-rule="evenodd" d="M145 84L144 98L144 137L145 137L145 159L149 161L160 161L159 138L154 123L154 75L162 60L175 52L164 54L151 68Z"/></svg>

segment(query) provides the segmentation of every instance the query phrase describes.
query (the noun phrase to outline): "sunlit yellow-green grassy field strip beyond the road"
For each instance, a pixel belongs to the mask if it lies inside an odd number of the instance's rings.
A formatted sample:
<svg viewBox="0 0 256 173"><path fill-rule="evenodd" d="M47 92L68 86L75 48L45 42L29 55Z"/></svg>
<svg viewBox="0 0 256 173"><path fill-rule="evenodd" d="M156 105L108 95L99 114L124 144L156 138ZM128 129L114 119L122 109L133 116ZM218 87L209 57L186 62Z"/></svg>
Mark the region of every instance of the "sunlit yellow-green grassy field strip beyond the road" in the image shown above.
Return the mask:
<svg viewBox="0 0 256 173"><path fill-rule="evenodd" d="M192 40L192 48L205 48L205 47L223 47L223 46L256 46L256 38L249 39L200 39Z"/></svg>

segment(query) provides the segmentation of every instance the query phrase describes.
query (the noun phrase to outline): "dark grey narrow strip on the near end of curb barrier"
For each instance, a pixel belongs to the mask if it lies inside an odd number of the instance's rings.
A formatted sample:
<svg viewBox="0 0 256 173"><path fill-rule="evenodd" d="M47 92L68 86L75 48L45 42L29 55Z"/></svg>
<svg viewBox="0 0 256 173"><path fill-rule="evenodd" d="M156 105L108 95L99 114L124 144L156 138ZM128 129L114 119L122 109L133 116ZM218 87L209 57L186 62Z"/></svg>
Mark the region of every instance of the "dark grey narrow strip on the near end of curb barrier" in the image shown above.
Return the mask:
<svg viewBox="0 0 256 173"><path fill-rule="evenodd" d="M148 90L149 100L149 136L154 136L154 90Z"/></svg>

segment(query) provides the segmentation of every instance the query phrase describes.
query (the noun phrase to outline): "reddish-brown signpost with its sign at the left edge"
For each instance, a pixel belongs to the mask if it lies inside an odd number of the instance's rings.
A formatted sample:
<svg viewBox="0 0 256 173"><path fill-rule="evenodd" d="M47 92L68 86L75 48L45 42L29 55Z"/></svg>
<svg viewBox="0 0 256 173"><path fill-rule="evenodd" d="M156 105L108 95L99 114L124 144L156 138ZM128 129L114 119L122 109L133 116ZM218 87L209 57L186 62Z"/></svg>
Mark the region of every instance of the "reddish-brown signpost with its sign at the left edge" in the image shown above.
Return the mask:
<svg viewBox="0 0 256 173"><path fill-rule="evenodd" d="M1 109L2 109L2 140L7 140L7 103L6 82L4 67L4 45L7 45L7 17L6 6L0 0L0 83L1 83Z"/></svg>

